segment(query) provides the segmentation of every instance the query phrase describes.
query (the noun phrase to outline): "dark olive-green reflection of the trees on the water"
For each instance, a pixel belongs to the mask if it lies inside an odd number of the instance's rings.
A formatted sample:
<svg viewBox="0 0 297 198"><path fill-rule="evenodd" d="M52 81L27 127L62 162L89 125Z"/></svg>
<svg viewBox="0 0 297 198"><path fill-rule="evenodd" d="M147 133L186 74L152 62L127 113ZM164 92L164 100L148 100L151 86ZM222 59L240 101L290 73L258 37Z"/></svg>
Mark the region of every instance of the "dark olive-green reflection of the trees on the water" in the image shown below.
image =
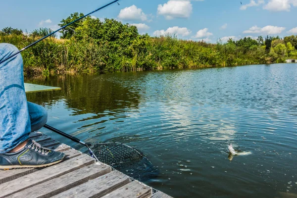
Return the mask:
<svg viewBox="0 0 297 198"><path fill-rule="evenodd" d="M90 119L117 114L117 109L137 108L139 95L121 84L111 82L104 75L59 75L28 78L27 83L60 87L61 91L32 93L29 101L52 105L63 99L72 115L93 113ZM85 120L80 120L85 121Z"/></svg>

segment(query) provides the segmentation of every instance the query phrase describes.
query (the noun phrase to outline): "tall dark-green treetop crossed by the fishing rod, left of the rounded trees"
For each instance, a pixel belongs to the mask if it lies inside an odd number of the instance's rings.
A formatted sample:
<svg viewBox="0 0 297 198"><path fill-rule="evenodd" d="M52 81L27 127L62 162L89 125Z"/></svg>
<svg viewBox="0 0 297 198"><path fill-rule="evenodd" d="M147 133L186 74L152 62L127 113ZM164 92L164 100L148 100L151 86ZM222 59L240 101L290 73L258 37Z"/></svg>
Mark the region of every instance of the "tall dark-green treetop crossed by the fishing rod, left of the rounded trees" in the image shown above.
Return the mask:
<svg viewBox="0 0 297 198"><path fill-rule="evenodd" d="M65 25L67 25L68 23L71 23L72 21L79 19L80 17L84 16L83 13L78 13L78 12L74 12L73 14L71 14L70 16L68 16L66 19L62 19L61 23L59 23L58 25L60 27L63 27ZM74 34L75 34L75 29L79 26L81 26L81 24L83 23L85 19L79 20L71 25L69 25L68 27L66 27L65 29L62 30L62 39L70 39Z"/></svg>

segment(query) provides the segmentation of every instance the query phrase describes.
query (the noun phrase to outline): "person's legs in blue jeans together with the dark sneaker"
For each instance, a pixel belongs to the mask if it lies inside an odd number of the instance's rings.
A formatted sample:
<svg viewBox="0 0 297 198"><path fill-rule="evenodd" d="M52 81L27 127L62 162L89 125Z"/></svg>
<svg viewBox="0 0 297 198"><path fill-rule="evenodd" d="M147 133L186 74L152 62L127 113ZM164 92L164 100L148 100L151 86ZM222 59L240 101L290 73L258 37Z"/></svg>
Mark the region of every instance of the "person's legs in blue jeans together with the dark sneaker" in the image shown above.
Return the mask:
<svg viewBox="0 0 297 198"><path fill-rule="evenodd" d="M16 51L17 48L10 44L0 44L0 60ZM33 130L41 128L47 121L45 110L29 105L32 106ZM30 132L23 60L19 54L0 64L0 170L45 167L63 160L64 153L27 140Z"/></svg>

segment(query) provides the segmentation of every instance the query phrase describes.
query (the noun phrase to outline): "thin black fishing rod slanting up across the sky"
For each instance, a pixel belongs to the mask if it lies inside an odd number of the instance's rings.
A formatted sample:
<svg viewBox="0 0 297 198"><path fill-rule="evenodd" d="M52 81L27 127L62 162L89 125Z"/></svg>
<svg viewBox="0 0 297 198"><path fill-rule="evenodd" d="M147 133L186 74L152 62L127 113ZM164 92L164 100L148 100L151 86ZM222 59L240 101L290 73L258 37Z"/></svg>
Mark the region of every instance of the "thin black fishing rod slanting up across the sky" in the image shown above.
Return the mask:
<svg viewBox="0 0 297 198"><path fill-rule="evenodd" d="M117 1L119 1L119 0L113 0L112 2L107 3L106 5L103 5L102 7L99 7L98 9L96 9L96 10L90 12L89 14L86 14L86 15L84 15L84 16L82 16L82 17L80 17L80 18L78 18L78 19L76 19L76 20L74 20L74 21L72 21L71 23L68 23L67 25L64 25L63 27L61 27L61 28L57 29L56 31L50 33L49 35L47 35L47 36L45 36L45 37L39 39L38 41L36 41L36 42L30 44L29 46L27 46L27 47L25 47L25 48L23 48L23 49L21 49L21 50L15 52L15 53L13 53L13 54L10 55L9 57L7 57L7 58L5 58L4 60L0 61L0 64L3 63L4 61L8 60L9 58L11 58L11 57L13 57L13 56L19 54L19 53L22 52L23 50L28 49L28 48L30 48L31 46L34 46L35 44L41 42L42 40L44 40L44 39L46 39L46 38L48 38L48 37L50 37L51 35L57 33L58 31L60 31L60 30L62 30L62 29L64 29L64 28L66 28L67 26L69 26L69 25L75 23L76 21L79 21L79 20L81 20L81 19L83 19L83 18L89 16L90 14L93 14L94 12L97 12L97 11L99 11L100 9L103 9L104 7L107 7L108 5L111 5L111 4L113 4L113 3L117 2ZM118 2L117 2L117 3L118 3ZM119 4L119 3L118 3L118 4Z"/></svg>

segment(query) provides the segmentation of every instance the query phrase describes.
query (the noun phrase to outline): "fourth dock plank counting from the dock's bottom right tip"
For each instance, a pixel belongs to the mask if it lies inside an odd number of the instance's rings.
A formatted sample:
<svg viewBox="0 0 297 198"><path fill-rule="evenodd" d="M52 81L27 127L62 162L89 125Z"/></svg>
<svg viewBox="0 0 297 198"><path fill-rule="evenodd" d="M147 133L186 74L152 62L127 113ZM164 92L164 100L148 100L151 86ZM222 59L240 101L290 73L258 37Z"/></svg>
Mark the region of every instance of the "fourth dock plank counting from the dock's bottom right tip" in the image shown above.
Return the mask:
<svg viewBox="0 0 297 198"><path fill-rule="evenodd" d="M111 167L96 163L90 166L83 167L71 173L62 175L55 179L49 180L48 182L43 182L39 185L27 188L21 192L13 194L9 197L11 198L49 198L55 196L59 193L67 191L78 185L88 182L89 180L105 175L111 172ZM87 191L89 194L89 192Z"/></svg>

